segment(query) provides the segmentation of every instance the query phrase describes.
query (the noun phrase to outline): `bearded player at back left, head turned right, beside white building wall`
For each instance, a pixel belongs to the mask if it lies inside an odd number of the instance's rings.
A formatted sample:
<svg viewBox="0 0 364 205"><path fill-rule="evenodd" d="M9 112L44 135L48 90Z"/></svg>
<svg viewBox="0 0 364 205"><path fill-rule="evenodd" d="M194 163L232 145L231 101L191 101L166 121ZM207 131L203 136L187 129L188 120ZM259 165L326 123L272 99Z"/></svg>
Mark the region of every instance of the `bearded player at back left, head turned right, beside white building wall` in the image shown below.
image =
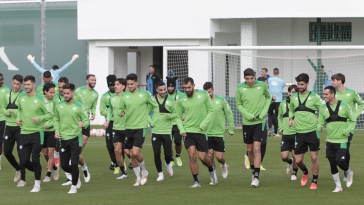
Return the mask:
<svg viewBox="0 0 364 205"><path fill-rule="evenodd" d="M99 99L99 94L94 89L94 87L96 86L96 76L88 74L86 76L86 83L87 83L86 86L77 88L76 92L78 92L79 95L82 96L82 98L85 100L86 104L83 105L88 113L88 116L90 116L91 113L90 120L92 121L95 119L96 105L97 105L97 100ZM90 125L88 125L86 129L82 128L82 150L85 148L87 139L89 137L90 137ZM91 176L90 176L90 171L88 170L88 167L82 155L80 155L79 163L82 167L83 178L87 183L90 181Z"/></svg>

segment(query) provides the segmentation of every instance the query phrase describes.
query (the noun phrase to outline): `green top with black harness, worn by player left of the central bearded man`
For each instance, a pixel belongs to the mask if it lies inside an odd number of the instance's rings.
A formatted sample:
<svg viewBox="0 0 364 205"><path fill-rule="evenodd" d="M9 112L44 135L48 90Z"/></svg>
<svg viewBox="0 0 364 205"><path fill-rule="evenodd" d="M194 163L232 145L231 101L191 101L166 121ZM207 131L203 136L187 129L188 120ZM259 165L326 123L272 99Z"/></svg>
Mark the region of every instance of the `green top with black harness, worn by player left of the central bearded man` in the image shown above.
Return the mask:
<svg viewBox="0 0 364 205"><path fill-rule="evenodd" d="M152 133L154 134L171 134L172 133L172 119L176 118L176 111L175 111L175 102L174 99L166 96L166 102L164 105L164 109L165 111L159 109L159 105L158 107L154 108L154 113L156 113L157 111L159 111L159 114L154 114L153 113L153 118L150 117L150 114L152 112L151 106L148 106L149 109L149 124L152 127ZM163 109L163 101L165 100L165 98L162 99L158 99L158 102L161 104L161 107ZM161 111L163 113L161 113ZM168 111L169 113L167 113L166 111ZM167 115L167 116L166 116Z"/></svg>

